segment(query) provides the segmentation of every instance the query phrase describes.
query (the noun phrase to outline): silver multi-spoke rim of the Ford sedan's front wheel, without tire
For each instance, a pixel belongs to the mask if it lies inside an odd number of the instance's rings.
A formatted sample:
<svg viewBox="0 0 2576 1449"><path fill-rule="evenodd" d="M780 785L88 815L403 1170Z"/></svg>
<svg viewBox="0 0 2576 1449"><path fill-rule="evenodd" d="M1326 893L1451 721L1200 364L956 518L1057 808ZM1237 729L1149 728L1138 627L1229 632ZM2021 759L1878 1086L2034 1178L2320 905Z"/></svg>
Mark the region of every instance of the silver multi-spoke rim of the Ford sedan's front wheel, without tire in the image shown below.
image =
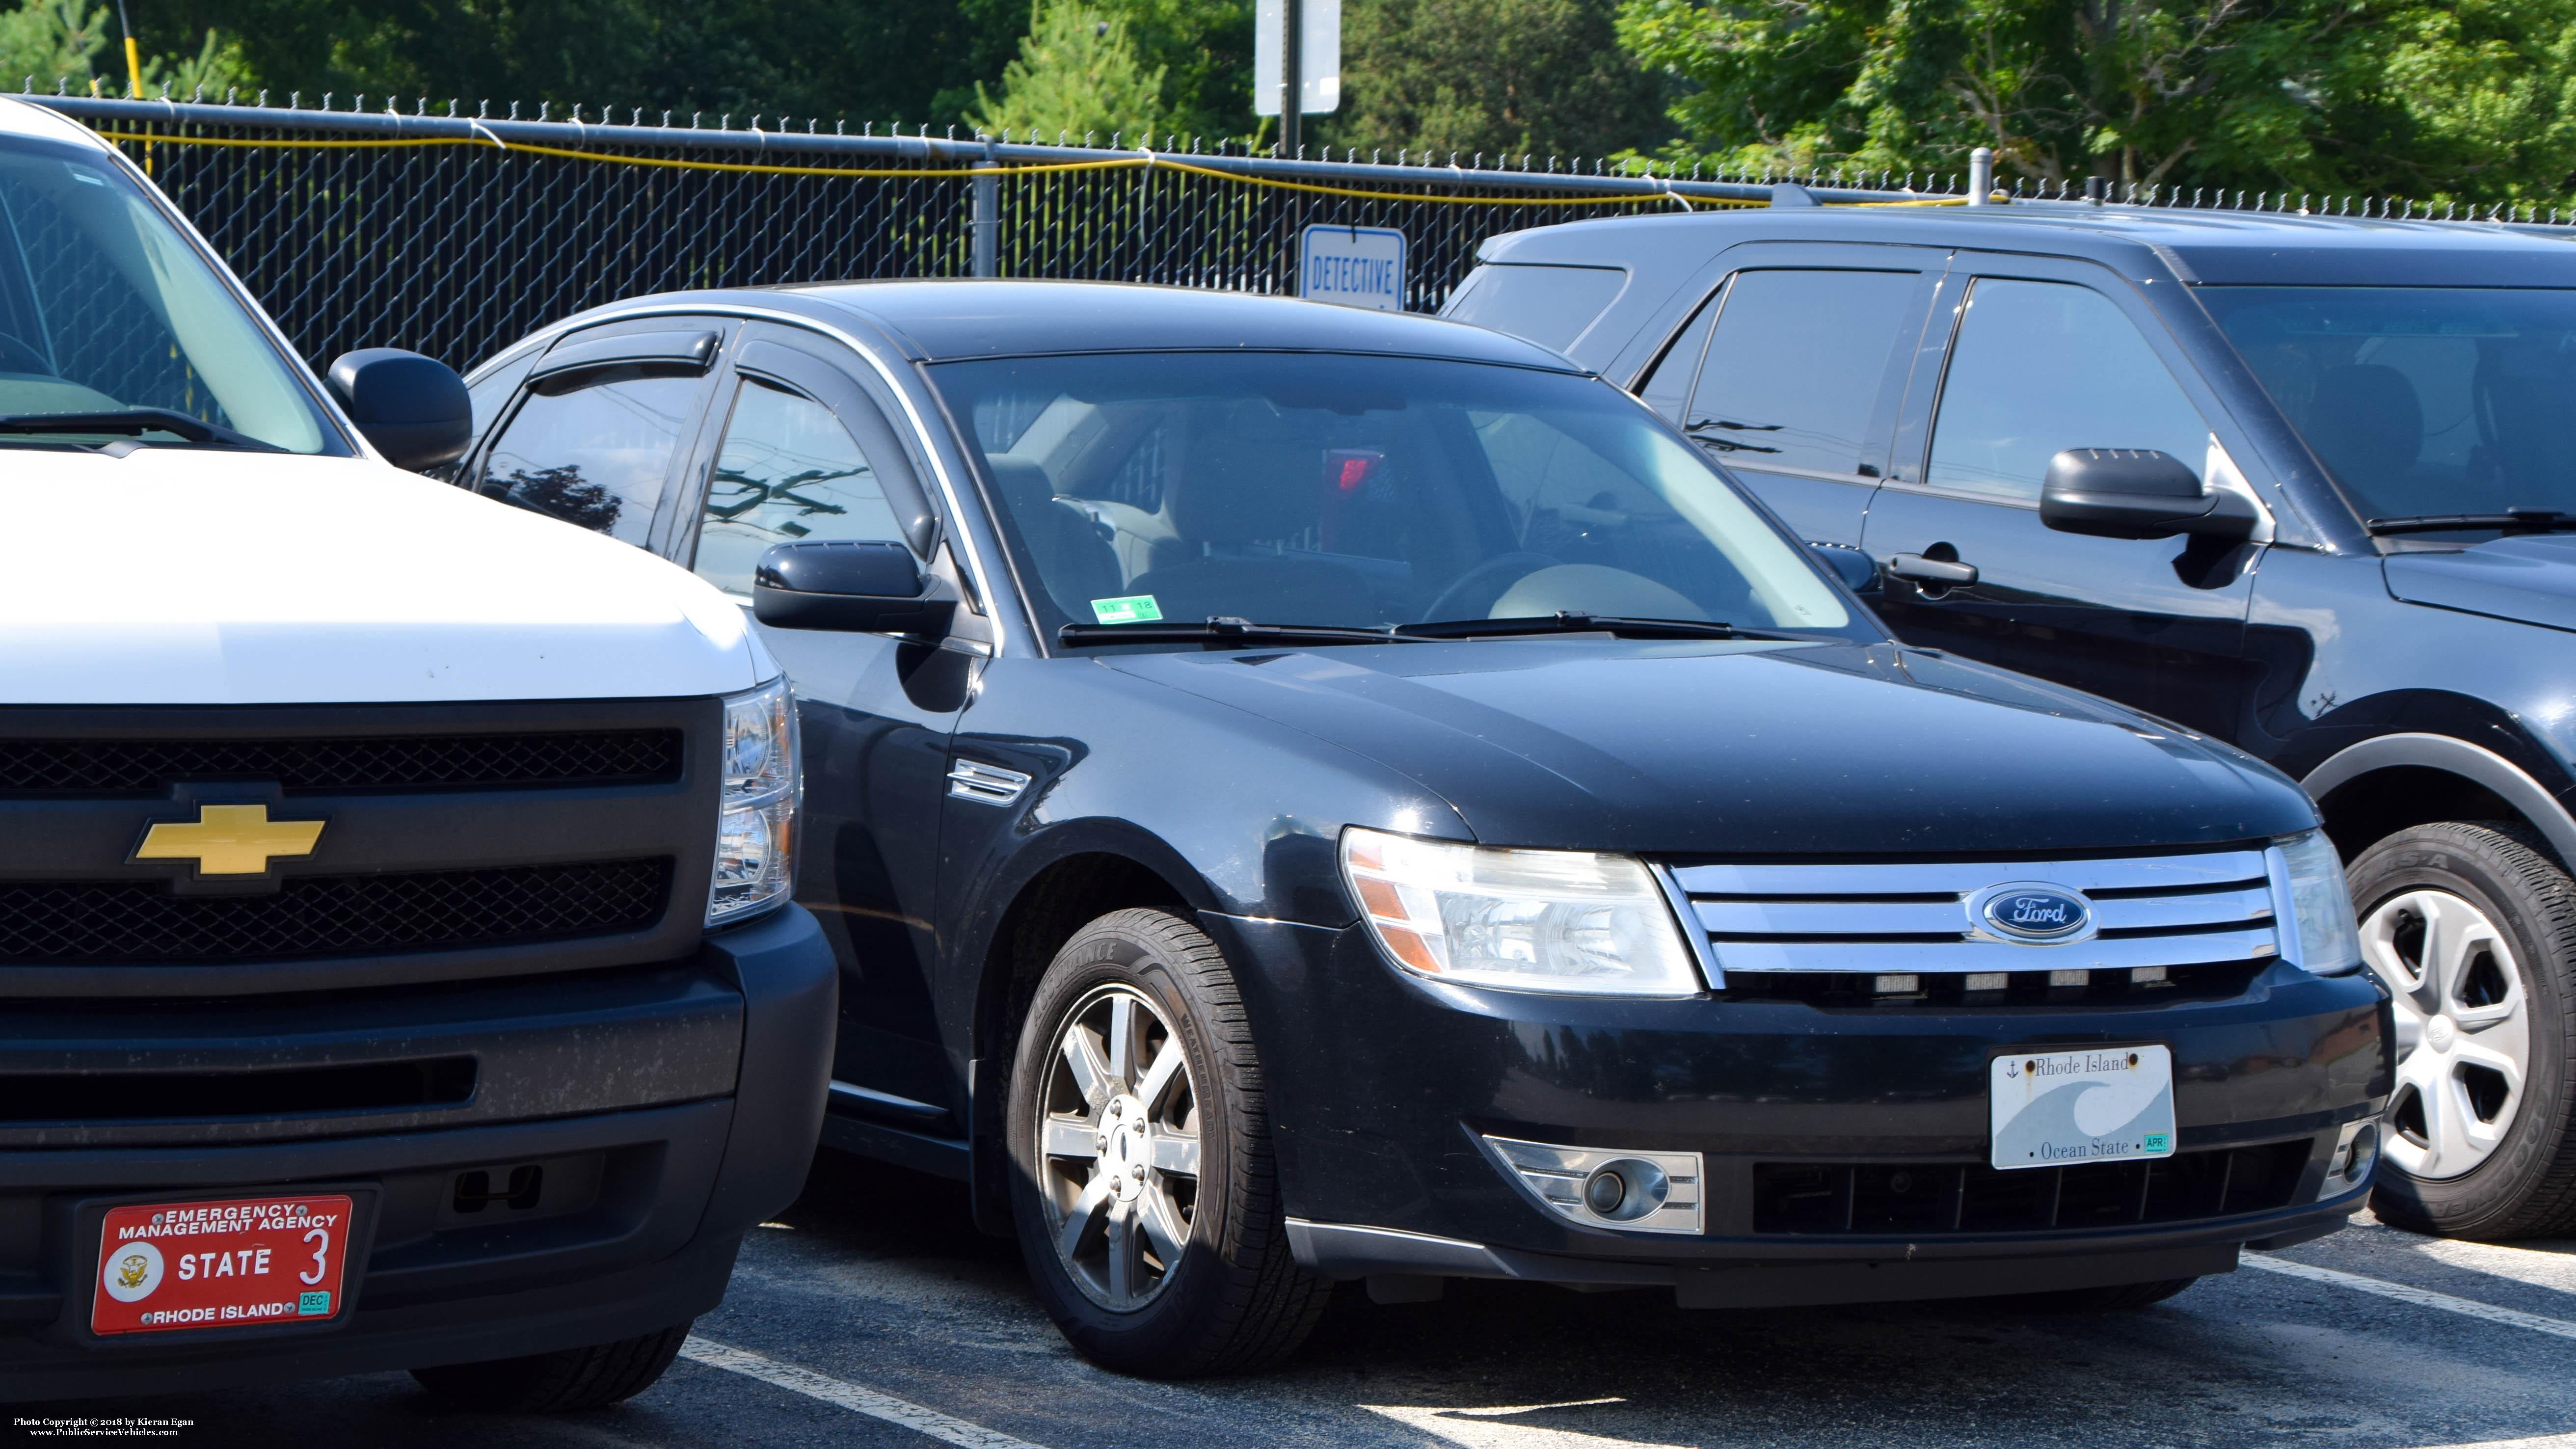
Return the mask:
<svg viewBox="0 0 2576 1449"><path fill-rule="evenodd" d="M1038 1091L1038 1196L1066 1276L1136 1312L1180 1271L1198 1214L1198 1088L1172 1024L1128 987L1082 998Z"/></svg>

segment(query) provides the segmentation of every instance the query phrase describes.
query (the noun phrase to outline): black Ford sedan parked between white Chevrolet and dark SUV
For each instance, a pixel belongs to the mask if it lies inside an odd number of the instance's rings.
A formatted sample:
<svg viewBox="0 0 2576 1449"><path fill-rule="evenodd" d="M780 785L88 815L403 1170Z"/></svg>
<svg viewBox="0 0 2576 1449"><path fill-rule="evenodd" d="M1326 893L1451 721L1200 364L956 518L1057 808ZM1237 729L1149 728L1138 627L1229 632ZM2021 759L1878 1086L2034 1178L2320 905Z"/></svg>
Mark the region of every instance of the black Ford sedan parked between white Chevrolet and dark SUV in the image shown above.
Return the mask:
<svg viewBox="0 0 2576 1449"><path fill-rule="evenodd" d="M1553 353L1084 284L621 302L461 482L796 681L824 1140L1095 1359L1321 1281L2154 1302L2360 1207L2385 1006L2311 802L1901 650Z"/></svg>

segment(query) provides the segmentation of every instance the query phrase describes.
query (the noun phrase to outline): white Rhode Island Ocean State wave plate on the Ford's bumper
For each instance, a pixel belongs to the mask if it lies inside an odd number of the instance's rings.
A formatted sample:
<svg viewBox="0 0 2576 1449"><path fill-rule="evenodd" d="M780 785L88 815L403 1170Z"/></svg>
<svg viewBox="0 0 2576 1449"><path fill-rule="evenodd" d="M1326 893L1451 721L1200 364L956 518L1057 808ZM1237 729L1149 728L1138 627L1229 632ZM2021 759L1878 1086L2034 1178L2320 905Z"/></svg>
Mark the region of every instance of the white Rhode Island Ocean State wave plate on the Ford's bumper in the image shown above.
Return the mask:
<svg viewBox="0 0 2576 1449"><path fill-rule="evenodd" d="M2174 1052L2022 1052L1989 1067L1999 1171L2174 1155Z"/></svg>

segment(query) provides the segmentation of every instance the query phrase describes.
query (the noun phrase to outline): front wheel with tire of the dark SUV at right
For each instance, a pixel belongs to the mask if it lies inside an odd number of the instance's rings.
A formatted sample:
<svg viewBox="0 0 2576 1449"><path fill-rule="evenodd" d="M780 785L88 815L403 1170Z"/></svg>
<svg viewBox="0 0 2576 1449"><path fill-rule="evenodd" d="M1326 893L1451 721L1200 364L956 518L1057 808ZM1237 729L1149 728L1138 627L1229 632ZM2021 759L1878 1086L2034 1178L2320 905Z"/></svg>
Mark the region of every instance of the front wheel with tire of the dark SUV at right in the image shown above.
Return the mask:
<svg viewBox="0 0 2576 1449"><path fill-rule="evenodd" d="M2396 998L2370 1209L2445 1238L2576 1227L2576 882L2519 830L2455 820L2378 841L2349 877Z"/></svg>

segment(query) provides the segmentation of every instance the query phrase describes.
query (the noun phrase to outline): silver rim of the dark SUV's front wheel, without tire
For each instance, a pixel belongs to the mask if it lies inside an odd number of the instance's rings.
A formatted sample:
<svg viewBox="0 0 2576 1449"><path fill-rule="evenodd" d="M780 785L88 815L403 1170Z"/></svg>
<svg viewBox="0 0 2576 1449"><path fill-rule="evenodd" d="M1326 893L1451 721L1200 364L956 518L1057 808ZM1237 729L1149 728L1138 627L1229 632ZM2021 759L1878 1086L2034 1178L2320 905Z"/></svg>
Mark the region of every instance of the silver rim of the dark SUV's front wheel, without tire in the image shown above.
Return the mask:
<svg viewBox="0 0 2576 1449"><path fill-rule="evenodd" d="M2522 1106L2532 1024L2514 949L2465 897L2409 890L2362 920L2362 959L2396 995L2388 1163L2458 1178L2504 1145Z"/></svg>

